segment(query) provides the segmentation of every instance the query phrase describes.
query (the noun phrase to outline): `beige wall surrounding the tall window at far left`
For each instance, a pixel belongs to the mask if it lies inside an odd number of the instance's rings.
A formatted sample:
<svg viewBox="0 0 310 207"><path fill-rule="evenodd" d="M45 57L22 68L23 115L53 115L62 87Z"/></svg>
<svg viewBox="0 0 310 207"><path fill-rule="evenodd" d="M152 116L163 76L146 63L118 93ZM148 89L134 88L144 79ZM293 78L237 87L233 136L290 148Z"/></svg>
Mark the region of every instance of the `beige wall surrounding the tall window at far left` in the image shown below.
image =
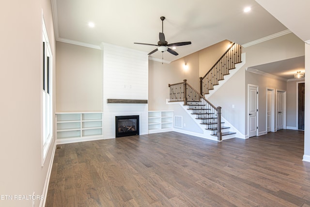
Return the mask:
<svg viewBox="0 0 310 207"><path fill-rule="evenodd" d="M0 7L0 195L41 195L47 178L55 138L42 167L42 9L55 71L51 1L10 0ZM39 204L39 200L35 201L35 206ZM32 201L0 200L0 206L32 206Z"/></svg>

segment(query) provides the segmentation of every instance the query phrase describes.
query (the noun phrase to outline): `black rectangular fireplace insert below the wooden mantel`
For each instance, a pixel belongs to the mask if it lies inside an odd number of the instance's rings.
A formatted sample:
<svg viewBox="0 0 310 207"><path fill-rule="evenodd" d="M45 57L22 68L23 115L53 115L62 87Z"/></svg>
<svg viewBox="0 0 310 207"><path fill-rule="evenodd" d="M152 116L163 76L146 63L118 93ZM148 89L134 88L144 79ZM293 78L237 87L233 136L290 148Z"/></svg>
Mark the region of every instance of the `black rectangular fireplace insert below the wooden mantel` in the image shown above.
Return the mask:
<svg viewBox="0 0 310 207"><path fill-rule="evenodd" d="M115 137L139 135L139 115L115 116Z"/></svg>

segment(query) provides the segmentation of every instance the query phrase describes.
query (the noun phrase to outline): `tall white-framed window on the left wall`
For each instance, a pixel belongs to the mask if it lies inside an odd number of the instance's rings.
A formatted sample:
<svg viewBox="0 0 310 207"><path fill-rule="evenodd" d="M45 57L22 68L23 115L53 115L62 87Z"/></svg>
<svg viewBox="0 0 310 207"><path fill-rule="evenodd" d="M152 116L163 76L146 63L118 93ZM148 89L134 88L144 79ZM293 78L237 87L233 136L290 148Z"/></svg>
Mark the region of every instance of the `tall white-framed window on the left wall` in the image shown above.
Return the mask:
<svg viewBox="0 0 310 207"><path fill-rule="evenodd" d="M53 138L53 96L52 96L52 68L53 56L48 42L47 31L43 19L42 35L42 166Z"/></svg>

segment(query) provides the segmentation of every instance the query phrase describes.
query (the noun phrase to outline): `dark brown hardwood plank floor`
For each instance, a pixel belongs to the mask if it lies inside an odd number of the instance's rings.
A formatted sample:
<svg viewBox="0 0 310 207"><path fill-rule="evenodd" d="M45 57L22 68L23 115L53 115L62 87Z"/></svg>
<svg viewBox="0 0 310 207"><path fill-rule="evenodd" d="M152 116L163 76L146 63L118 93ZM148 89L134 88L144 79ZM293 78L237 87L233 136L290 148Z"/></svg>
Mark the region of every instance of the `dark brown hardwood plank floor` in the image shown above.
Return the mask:
<svg viewBox="0 0 310 207"><path fill-rule="evenodd" d="M215 142L177 132L61 144L47 207L310 207L304 133Z"/></svg>

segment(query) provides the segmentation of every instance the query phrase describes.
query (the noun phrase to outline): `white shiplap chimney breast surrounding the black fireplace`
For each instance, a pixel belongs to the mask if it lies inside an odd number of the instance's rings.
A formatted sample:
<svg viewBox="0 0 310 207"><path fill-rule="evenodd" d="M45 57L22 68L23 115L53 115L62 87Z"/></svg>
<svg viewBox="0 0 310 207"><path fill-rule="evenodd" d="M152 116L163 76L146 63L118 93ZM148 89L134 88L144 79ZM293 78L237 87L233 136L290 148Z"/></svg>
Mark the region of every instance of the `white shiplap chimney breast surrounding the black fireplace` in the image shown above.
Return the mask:
<svg viewBox="0 0 310 207"><path fill-rule="evenodd" d="M115 116L139 115L140 134L148 133L148 104L112 104L107 99L148 99L148 56L144 52L102 44L103 131L115 138Z"/></svg>

